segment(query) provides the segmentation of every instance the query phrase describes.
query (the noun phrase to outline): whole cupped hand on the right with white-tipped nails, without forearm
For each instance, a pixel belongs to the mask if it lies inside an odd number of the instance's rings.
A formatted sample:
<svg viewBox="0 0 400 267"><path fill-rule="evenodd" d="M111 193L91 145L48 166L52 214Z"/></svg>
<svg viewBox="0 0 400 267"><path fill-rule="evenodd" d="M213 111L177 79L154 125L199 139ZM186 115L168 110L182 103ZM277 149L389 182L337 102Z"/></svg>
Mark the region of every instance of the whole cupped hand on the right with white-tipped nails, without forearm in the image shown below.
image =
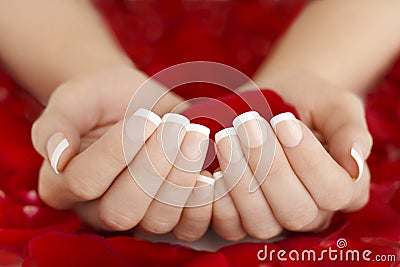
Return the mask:
<svg viewBox="0 0 400 267"><path fill-rule="evenodd" d="M219 201L214 203L213 224L228 239L245 233L270 238L282 228L321 230L334 211L354 211L368 201L364 161L372 140L361 101L311 74L270 78L262 87L276 89L302 121L284 113L270 125L251 112L217 134L222 180L232 190L221 199L223 209ZM253 178L260 189L249 192ZM221 210L224 216L216 214ZM224 217L230 220L222 227Z"/></svg>

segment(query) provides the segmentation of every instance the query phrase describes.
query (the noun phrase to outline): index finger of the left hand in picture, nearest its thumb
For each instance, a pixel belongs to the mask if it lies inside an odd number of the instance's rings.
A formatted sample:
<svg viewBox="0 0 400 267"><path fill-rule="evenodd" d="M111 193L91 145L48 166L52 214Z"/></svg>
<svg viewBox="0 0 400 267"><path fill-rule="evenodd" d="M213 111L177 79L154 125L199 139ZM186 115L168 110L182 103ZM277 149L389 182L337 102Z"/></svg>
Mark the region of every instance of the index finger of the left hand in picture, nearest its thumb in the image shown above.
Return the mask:
<svg viewBox="0 0 400 267"><path fill-rule="evenodd" d="M46 195L57 208L69 208L76 202L100 197L155 131L159 120L151 111L139 109L135 112L125 125L124 143L130 148L125 149L125 154L121 140L123 122L118 122L76 155L58 177L52 172L43 173L39 186L41 195Z"/></svg>

